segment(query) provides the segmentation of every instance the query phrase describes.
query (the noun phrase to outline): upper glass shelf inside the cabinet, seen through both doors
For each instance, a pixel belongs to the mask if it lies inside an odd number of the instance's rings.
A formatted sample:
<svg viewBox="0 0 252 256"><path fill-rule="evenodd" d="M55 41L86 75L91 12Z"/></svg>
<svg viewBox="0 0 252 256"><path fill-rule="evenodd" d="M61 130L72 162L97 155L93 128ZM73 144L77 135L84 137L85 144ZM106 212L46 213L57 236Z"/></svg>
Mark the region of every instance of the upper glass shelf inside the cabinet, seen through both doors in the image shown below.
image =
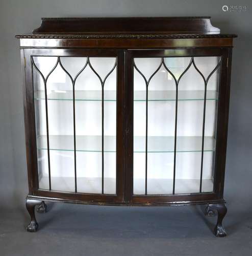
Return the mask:
<svg viewBox="0 0 252 256"><path fill-rule="evenodd" d="M178 100L204 100L204 91L179 91ZM134 101L145 101L145 91L134 91ZM45 99L44 91L37 91L35 99ZM72 100L72 91L47 91L48 100ZM148 101L174 101L175 91L148 91ZM216 91L207 91L207 100L217 100ZM75 101L101 101L101 91L75 91ZM105 101L116 101L116 91L104 91Z"/></svg>

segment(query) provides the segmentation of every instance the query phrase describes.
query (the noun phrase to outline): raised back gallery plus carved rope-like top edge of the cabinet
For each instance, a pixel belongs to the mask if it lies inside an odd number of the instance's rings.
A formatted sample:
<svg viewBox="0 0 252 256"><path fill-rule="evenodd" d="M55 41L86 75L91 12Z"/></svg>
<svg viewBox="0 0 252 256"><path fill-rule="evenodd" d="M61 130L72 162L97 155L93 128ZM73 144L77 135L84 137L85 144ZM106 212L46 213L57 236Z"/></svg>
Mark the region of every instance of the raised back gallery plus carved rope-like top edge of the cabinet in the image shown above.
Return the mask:
<svg viewBox="0 0 252 256"><path fill-rule="evenodd" d="M17 38L62 39L162 39L162 38L232 38L212 26L210 17L100 17L41 18L41 25L31 34Z"/></svg>

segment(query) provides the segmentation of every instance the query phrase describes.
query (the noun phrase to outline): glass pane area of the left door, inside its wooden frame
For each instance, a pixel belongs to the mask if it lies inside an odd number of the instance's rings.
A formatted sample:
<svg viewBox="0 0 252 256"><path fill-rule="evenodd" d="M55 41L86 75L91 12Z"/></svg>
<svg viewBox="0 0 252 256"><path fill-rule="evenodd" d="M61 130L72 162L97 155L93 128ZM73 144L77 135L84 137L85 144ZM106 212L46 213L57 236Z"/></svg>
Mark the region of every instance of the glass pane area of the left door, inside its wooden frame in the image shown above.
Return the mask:
<svg viewBox="0 0 252 256"><path fill-rule="evenodd" d="M116 194L116 58L33 56L39 188Z"/></svg>

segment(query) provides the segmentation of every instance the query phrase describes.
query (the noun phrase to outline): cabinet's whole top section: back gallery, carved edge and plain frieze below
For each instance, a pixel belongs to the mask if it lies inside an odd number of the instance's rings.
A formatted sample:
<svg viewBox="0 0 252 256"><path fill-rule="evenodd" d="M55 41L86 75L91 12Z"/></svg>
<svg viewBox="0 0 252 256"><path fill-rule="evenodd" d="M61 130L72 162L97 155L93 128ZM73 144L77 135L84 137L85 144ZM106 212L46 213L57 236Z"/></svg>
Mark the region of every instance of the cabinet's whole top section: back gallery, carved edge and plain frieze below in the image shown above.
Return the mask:
<svg viewBox="0 0 252 256"><path fill-rule="evenodd" d="M220 34L210 17L111 17L42 18L32 34L16 37L21 47L147 49L229 47L236 36Z"/></svg>

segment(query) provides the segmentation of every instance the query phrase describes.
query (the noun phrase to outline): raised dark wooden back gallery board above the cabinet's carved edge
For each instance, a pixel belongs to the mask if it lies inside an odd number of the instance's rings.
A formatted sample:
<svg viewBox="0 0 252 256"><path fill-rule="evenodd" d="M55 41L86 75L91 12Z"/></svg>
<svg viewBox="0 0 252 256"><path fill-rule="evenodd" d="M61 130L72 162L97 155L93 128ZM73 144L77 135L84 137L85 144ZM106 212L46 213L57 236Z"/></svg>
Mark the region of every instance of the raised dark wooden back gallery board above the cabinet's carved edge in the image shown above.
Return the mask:
<svg viewBox="0 0 252 256"><path fill-rule="evenodd" d="M175 25L175 26L174 26ZM81 33L219 33L210 17L108 17L108 18L42 18L33 34Z"/></svg>

